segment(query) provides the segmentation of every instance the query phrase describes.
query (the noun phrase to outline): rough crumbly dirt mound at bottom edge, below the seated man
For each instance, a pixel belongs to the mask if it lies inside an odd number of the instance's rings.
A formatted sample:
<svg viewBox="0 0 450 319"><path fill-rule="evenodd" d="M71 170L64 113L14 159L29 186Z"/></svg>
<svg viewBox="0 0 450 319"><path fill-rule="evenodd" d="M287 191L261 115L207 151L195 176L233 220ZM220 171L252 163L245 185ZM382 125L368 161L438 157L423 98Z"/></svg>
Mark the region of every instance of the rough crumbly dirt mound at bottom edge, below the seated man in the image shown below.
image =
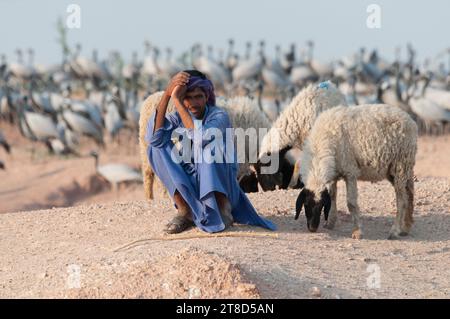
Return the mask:
<svg viewBox="0 0 450 319"><path fill-rule="evenodd" d="M258 298L239 267L216 254L183 249L153 262L84 267L67 298Z"/></svg>

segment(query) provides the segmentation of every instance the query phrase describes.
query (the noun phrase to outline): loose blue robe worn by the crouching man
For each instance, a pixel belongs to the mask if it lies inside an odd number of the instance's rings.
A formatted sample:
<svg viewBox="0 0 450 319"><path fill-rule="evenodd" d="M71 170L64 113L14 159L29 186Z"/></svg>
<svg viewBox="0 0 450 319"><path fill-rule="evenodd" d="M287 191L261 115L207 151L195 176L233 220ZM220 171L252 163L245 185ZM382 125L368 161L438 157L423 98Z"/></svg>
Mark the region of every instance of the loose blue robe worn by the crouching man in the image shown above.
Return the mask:
<svg viewBox="0 0 450 319"><path fill-rule="evenodd" d="M231 140L233 150L231 153L227 153L225 141L226 129L232 127L227 112L215 106L207 106L201 121L195 119L191 114L194 124L196 127L200 124L201 130L186 129L178 112L173 112L166 114L164 126L153 132L155 117L156 112L152 114L148 121L145 137L149 145L147 149L149 163L172 198L176 190L180 192L191 208L194 223L198 228L211 233L225 229L213 193L221 192L230 201L231 214L235 222L260 226L270 230L276 229L271 221L258 216L255 208L238 184L235 145ZM208 134L214 128L222 132L223 143L221 145L223 145L223 149L214 148L214 151L210 153L215 155L215 152L220 152L218 156L224 156L222 163L192 160L199 155L199 150L201 151L214 140L214 138L211 138L211 134ZM177 163L173 160L173 154L171 153L177 151L171 139L174 130L177 132L182 130L185 133L183 137L193 141L193 155L190 161ZM230 145L228 145L229 148ZM225 156L230 158L230 154L232 154L231 161L225 161Z"/></svg>

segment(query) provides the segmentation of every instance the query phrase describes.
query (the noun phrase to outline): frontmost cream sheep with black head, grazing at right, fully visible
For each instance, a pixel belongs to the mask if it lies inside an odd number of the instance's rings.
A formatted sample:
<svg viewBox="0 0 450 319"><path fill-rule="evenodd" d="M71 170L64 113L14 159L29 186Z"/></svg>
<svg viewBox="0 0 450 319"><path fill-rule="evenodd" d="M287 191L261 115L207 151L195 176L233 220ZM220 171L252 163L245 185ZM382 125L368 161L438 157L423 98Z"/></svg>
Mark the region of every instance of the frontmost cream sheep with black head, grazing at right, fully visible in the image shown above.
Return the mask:
<svg viewBox="0 0 450 319"><path fill-rule="evenodd" d="M295 219L304 206L308 229L315 232L323 209L325 227L332 229L337 219L336 184L344 179L354 225L352 238L359 239L362 230L357 180L387 179L397 199L397 217L389 239L406 236L413 224L417 135L411 117L386 104L336 107L323 112L303 148L300 175L305 188L297 198Z"/></svg>

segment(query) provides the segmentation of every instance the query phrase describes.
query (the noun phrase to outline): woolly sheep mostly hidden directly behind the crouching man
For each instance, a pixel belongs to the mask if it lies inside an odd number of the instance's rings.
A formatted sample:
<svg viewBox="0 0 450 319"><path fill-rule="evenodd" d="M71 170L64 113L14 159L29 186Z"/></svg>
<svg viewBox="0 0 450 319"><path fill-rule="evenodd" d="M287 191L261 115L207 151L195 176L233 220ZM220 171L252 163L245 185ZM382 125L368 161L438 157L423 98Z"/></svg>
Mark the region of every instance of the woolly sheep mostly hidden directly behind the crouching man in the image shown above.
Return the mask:
<svg viewBox="0 0 450 319"><path fill-rule="evenodd" d="M163 92L157 92L149 97L142 103L142 107L140 110L140 118L139 118L139 146L140 146L140 155L142 162L142 173L144 176L144 190L146 199L150 200L154 197L154 186L153 183L155 181L155 174L149 164L147 157L147 148L148 144L145 140L145 134L147 130L148 120L151 117L152 113L156 109L159 101L161 100ZM235 97L231 99L225 98L217 98L216 104L218 107L224 108L230 116L231 123L234 128L243 128L244 130L248 128L255 128L257 131L260 128L269 129L270 122L267 117L260 112L257 102L251 100L246 97ZM169 102L169 106L167 108L167 112L175 111L175 106ZM259 138L259 135L257 135ZM259 143L259 140L256 144ZM255 168L250 160L255 160L257 158L257 149L254 149L255 153L250 153L251 148L246 145L246 154L245 161L243 163L239 163L239 170L237 178L239 181L246 178L247 176L255 176L257 172L257 167ZM255 177L256 178L256 177ZM278 183L279 177L274 174L272 176L263 176L260 180L263 186L263 189L275 189L275 184ZM160 181L157 178L157 183ZM254 183L256 180L253 179L251 182ZM257 181L256 181L257 182ZM241 184L242 185L242 184ZM257 187L257 185L256 185ZM164 187L162 185L157 186L156 189L163 194L165 194ZM253 191L255 191L254 187L251 187ZM244 189L245 190L245 189ZM257 188L256 188L257 191Z"/></svg>

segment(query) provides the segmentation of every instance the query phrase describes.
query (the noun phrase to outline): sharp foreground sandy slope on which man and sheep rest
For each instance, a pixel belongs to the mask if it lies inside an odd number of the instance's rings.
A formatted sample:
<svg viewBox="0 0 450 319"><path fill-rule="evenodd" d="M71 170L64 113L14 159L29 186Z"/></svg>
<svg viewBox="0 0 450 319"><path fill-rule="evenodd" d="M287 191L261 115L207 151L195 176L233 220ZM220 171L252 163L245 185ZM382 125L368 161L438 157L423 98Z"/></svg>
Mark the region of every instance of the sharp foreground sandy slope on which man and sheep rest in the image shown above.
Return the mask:
<svg viewBox="0 0 450 319"><path fill-rule="evenodd" d="M386 240L395 209L388 183L360 185L366 233L360 241L350 238L342 186L340 222L333 231L308 233L304 216L293 220L297 191L275 191L250 199L279 226L278 238L158 240L119 252L113 250L162 235L174 212L171 203L133 201L2 214L0 295L304 298L318 287L322 298L448 298L448 180L421 178L416 184L416 223L411 236L401 241ZM262 230L236 226L230 231ZM80 289L68 286L73 267L81 274ZM380 285L371 289L367 281L377 269Z"/></svg>

